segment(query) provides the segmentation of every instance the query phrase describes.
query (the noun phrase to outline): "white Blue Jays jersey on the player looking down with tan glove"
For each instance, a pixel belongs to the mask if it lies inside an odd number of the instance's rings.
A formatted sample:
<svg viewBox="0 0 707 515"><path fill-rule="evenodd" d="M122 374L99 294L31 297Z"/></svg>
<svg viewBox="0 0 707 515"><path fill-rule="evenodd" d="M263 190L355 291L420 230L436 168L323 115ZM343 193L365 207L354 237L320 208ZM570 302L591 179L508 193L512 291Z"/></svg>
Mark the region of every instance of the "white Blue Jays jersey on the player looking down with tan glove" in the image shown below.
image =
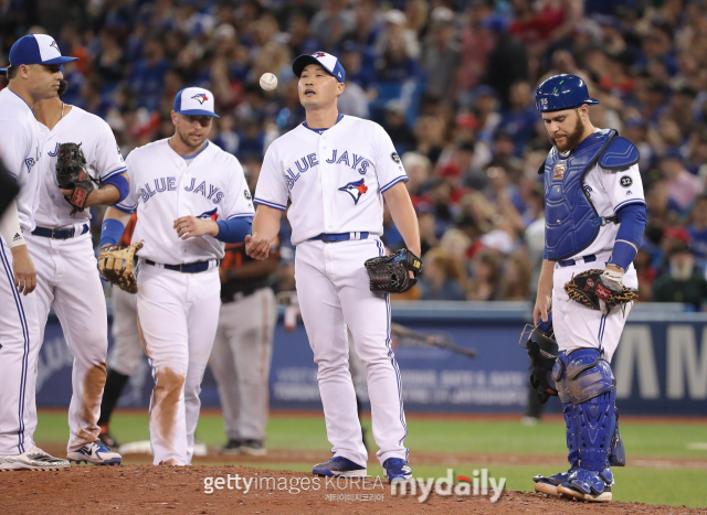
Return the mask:
<svg viewBox="0 0 707 515"><path fill-rule="evenodd" d="M163 265L221 259L223 242L211 236L180 239L172 223L190 215L214 221L253 216L243 168L210 141L192 159L179 155L168 141L130 152L125 160L130 194L116 206L128 212L137 207L133 242L144 240L141 258Z"/></svg>

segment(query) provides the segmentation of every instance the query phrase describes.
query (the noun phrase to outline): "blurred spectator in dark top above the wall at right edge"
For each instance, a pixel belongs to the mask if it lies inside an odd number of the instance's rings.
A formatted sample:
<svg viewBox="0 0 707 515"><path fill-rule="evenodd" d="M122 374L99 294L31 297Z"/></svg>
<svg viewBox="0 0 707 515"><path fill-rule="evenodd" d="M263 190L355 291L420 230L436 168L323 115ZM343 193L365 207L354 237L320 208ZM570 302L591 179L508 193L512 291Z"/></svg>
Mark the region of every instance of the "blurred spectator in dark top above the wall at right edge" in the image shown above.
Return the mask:
<svg viewBox="0 0 707 515"><path fill-rule="evenodd" d="M655 302L683 302L696 311L707 299L707 280L695 267L695 258L685 243L673 246L668 257L669 272L653 282Z"/></svg>

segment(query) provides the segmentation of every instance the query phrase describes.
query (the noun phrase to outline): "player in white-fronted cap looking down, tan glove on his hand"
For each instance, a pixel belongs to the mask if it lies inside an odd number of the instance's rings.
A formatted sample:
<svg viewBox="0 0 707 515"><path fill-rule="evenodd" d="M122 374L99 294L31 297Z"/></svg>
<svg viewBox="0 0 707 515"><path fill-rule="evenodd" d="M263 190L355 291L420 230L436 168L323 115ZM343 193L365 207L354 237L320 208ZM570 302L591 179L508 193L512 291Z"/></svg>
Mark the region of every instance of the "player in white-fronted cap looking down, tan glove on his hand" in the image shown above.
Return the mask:
<svg viewBox="0 0 707 515"><path fill-rule="evenodd" d="M137 208L138 326L152 367L150 441L155 464L188 465L194 450L199 391L220 308L224 243L243 242L253 217L238 160L207 138L213 94L188 87L175 98L175 135L126 159L128 197L109 207L101 246L120 238Z"/></svg>

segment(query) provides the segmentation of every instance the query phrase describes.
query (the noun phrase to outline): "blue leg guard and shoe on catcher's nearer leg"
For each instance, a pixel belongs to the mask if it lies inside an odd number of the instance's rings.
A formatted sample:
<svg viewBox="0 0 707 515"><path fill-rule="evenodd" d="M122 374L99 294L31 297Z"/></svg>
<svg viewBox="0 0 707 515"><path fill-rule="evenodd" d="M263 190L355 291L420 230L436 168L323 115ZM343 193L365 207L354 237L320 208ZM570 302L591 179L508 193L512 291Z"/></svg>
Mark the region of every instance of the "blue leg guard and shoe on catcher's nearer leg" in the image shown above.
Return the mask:
<svg viewBox="0 0 707 515"><path fill-rule="evenodd" d="M579 468L557 491L584 501L611 501L609 455L616 430L611 366L600 358L599 351L581 348L560 356L553 379L572 400L579 450Z"/></svg>

